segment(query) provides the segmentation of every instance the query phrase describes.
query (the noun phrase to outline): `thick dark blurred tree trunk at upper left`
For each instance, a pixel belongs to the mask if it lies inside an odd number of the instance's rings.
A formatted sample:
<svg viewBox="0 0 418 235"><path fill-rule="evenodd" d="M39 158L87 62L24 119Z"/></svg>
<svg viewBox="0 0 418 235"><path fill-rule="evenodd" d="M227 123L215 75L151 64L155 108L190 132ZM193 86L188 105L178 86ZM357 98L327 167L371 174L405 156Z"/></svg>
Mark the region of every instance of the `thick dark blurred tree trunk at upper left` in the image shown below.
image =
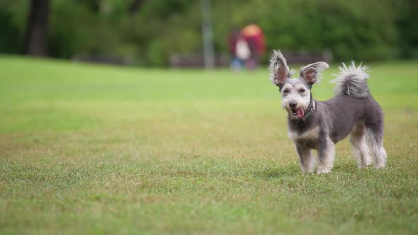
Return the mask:
<svg viewBox="0 0 418 235"><path fill-rule="evenodd" d="M31 0L28 28L25 37L25 54L47 56L47 26L50 0Z"/></svg>

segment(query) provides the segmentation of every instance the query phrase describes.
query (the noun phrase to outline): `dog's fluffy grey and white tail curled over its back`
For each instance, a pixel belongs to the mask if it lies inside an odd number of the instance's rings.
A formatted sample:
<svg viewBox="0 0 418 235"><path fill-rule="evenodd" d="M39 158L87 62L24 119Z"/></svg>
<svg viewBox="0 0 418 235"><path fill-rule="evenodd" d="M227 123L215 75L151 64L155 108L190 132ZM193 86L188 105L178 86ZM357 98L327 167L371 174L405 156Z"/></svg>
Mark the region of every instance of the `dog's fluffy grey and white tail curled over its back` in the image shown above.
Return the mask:
<svg viewBox="0 0 418 235"><path fill-rule="evenodd" d="M368 68L361 64L356 67L354 62L351 62L349 67L346 67L344 63L342 65L339 67L339 74L335 74L336 78L331 81L337 84L334 88L335 96L348 95L356 98L370 96L367 86Z"/></svg>

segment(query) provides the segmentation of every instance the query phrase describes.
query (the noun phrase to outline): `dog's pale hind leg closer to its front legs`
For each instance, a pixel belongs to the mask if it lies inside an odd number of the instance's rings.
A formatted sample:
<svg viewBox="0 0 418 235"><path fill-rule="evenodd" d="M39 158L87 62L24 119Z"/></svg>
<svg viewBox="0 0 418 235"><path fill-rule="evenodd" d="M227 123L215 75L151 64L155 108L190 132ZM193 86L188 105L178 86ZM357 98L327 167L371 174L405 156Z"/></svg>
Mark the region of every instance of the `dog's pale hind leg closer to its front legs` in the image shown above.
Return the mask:
<svg viewBox="0 0 418 235"><path fill-rule="evenodd" d="M358 168L370 165L372 160L366 144L366 132L363 124L356 125L351 131L350 143L353 155L357 159Z"/></svg>

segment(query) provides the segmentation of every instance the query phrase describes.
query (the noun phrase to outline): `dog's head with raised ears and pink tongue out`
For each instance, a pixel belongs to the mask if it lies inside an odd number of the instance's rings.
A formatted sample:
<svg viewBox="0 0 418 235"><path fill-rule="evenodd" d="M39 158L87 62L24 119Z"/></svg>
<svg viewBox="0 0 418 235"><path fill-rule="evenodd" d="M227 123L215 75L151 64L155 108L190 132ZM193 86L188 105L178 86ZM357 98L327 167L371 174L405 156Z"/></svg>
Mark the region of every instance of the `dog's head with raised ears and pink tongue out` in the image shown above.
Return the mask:
<svg viewBox="0 0 418 235"><path fill-rule="evenodd" d="M322 79L321 72L324 69L328 69L325 62L308 64L300 68L298 78L292 79L293 69L289 69L280 51L273 51L270 59L271 81L278 86L282 107L286 109L291 120L300 120L305 116L310 103L310 89Z"/></svg>

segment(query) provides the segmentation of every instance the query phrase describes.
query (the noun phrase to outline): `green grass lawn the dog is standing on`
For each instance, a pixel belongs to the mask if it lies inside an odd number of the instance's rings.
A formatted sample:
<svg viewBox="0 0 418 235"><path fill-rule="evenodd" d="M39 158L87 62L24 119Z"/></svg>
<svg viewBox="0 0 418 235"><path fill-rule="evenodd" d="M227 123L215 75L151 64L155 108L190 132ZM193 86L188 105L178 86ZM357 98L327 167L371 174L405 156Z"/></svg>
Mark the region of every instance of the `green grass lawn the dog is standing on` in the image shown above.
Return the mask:
<svg viewBox="0 0 418 235"><path fill-rule="evenodd" d="M388 167L318 176L266 69L0 57L0 234L417 234L418 62L370 66Z"/></svg>

